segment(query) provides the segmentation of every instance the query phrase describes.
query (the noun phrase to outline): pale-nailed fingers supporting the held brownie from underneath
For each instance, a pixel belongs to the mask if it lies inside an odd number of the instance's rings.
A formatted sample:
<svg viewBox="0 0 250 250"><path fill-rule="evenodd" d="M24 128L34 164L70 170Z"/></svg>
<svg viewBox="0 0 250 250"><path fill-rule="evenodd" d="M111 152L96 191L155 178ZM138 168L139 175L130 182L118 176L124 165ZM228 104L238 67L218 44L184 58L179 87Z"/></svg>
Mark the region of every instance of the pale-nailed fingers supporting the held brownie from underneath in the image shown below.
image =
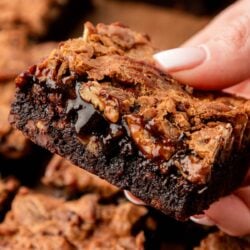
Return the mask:
<svg viewBox="0 0 250 250"><path fill-rule="evenodd" d="M125 190L124 194L134 204L145 205L130 192ZM206 226L216 225L232 236L250 235L250 170L241 188L213 203L203 214L190 219Z"/></svg>

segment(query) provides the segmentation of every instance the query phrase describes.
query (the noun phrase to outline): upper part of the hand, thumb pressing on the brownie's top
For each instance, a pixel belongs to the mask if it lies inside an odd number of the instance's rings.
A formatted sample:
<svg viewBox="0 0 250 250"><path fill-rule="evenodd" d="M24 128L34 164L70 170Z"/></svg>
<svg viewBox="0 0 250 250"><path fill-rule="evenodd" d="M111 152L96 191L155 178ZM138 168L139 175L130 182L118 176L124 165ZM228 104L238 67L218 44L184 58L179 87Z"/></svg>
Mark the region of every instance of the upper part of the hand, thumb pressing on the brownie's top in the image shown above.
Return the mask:
<svg viewBox="0 0 250 250"><path fill-rule="evenodd" d="M241 83L233 90L250 98L249 10L249 0L237 1L181 48L157 53L156 62L195 88L223 89Z"/></svg>

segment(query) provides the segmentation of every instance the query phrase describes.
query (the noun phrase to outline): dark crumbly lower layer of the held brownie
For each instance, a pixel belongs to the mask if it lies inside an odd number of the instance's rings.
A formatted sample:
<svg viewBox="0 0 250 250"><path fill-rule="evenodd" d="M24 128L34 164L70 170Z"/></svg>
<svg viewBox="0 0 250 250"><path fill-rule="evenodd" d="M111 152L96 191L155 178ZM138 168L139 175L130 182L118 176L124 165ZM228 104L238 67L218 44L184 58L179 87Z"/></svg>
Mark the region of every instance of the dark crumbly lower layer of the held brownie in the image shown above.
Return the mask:
<svg viewBox="0 0 250 250"><path fill-rule="evenodd" d="M160 174L157 165L141 155L120 154L109 160L103 153L95 156L80 143L74 121L68 121L62 129L50 125L51 121L62 118L57 117L55 110L49 111L53 108L47 101L46 91L41 88L38 93L31 93L32 84L34 82L18 89L12 104L10 120L16 128L52 153L71 160L119 188L130 190L147 204L178 220L202 212L213 201L230 193L240 184L248 169L246 150L240 156L232 155L223 166L214 166L211 180L204 186L187 181L176 171ZM65 96L61 95L60 100L63 99ZM34 122L41 120L47 125L37 129Z"/></svg>

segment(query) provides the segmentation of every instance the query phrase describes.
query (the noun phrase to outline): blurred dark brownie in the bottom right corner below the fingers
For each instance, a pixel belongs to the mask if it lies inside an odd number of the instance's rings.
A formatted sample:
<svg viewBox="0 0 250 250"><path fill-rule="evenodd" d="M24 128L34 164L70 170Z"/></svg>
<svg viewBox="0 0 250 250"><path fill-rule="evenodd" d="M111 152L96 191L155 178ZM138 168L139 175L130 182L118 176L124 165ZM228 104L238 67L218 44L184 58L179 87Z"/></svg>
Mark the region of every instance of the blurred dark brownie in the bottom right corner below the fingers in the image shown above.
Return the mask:
<svg viewBox="0 0 250 250"><path fill-rule="evenodd" d="M250 240L246 238L236 238L218 231L209 234L194 250L250 250Z"/></svg>

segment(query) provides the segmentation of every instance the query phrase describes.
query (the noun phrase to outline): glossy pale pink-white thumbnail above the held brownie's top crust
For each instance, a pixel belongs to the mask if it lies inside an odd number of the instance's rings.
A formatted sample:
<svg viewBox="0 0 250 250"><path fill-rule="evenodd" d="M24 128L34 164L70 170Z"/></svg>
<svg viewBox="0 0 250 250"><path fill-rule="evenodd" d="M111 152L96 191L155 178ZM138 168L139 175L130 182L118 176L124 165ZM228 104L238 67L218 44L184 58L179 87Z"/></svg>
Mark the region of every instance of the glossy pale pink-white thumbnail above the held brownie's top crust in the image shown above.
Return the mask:
<svg viewBox="0 0 250 250"><path fill-rule="evenodd" d="M154 55L157 64L168 72L192 69L203 63L207 57L204 46L171 49Z"/></svg>

